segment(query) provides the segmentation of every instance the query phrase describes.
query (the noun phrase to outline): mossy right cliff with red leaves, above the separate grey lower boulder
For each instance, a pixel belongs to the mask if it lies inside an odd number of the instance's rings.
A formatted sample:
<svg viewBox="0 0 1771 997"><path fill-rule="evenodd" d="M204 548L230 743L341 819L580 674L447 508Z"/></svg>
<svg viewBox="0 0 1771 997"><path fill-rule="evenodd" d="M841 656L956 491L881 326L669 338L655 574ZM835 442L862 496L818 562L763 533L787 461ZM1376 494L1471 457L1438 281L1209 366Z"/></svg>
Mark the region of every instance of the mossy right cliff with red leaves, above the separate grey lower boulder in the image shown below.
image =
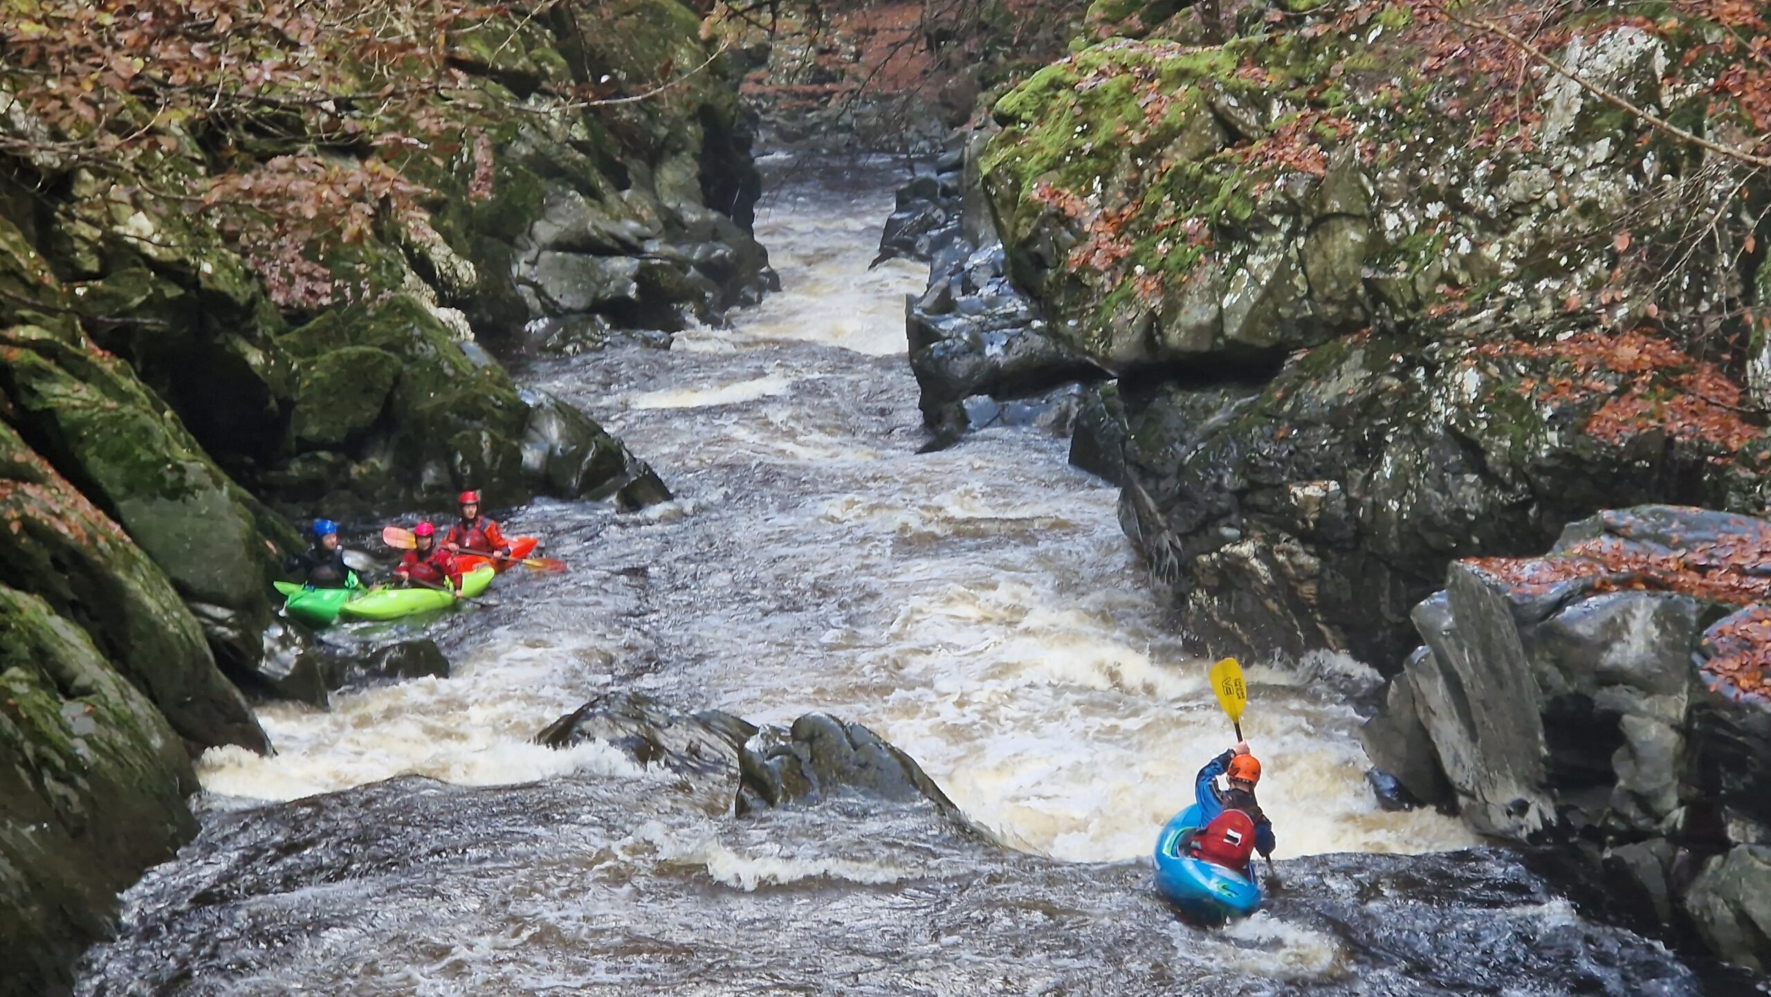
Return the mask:
<svg viewBox="0 0 1771 997"><path fill-rule="evenodd" d="M1504 7L1141 11L974 161L1045 335L1119 375L1123 519L1190 630L1394 671L1454 558L1760 506L1764 108L1707 41L1759 12L1574 11L1534 58Z"/></svg>

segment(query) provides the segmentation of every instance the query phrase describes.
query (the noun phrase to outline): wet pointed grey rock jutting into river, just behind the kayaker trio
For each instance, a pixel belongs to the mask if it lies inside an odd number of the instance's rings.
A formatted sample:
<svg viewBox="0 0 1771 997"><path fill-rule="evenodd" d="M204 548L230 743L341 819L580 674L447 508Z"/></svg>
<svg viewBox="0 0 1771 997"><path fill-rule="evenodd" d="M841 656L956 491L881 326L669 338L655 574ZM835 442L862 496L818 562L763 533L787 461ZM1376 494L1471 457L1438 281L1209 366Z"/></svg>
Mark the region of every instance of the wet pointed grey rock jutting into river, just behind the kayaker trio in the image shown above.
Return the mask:
<svg viewBox="0 0 1771 997"><path fill-rule="evenodd" d="M522 469L538 489L565 498L613 498L623 510L669 501L652 468L595 420L545 391L524 391Z"/></svg>

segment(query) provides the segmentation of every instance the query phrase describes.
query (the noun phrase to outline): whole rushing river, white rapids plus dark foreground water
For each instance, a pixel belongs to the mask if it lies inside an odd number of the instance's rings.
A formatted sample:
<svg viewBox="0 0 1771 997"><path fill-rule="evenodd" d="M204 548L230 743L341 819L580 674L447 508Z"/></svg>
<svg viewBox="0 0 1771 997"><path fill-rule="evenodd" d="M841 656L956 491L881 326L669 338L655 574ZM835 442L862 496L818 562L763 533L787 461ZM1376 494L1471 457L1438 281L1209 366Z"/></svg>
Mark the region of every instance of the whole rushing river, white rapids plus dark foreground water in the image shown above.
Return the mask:
<svg viewBox="0 0 1771 997"><path fill-rule="evenodd" d="M731 329L526 372L678 498L519 510L572 570L436 623L450 678L266 707L275 756L209 753L204 838L131 891L83 992L1688 992L1500 854L1295 861L1270 914L1174 921L1126 859L1231 742L1204 662L1061 434L919 453L901 344L924 271L868 269L884 177L824 184L767 202L785 290ZM1323 669L1250 666L1279 855L1470 845L1376 808L1332 691L1360 668ZM1017 850L926 804L733 818L615 747L531 744L609 689L864 723ZM400 774L436 781L379 783Z"/></svg>

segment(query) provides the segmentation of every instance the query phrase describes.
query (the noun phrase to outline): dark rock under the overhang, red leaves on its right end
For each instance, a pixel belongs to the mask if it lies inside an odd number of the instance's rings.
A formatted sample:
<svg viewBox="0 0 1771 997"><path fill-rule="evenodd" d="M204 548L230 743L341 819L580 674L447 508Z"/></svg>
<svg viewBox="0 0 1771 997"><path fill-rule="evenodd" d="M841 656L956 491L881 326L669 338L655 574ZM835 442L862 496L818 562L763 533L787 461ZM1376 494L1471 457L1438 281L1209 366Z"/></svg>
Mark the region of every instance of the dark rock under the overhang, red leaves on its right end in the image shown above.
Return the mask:
<svg viewBox="0 0 1771 997"><path fill-rule="evenodd" d="M1643 370L1656 349L1369 335L1264 384L1121 384L1121 521L1211 648L1394 671L1410 611L1456 558L1543 549L1619 501L1759 501L1762 430L1681 395L1716 374L1700 361ZM1629 398L1663 402L1617 418Z"/></svg>

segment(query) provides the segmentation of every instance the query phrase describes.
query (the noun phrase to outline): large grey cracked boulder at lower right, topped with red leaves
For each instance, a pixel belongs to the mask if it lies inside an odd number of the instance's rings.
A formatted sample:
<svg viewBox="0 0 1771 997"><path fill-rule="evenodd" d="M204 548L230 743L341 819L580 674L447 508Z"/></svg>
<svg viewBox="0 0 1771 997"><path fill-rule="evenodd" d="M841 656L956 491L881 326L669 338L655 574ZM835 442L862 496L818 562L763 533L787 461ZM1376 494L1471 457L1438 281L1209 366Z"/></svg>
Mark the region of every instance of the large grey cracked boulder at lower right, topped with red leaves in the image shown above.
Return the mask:
<svg viewBox="0 0 1771 997"><path fill-rule="evenodd" d="M1766 965L1771 522L1642 506L1450 568L1365 751L1484 834L1582 841L1620 889ZM1691 871L1702 873L1691 877Z"/></svg>

